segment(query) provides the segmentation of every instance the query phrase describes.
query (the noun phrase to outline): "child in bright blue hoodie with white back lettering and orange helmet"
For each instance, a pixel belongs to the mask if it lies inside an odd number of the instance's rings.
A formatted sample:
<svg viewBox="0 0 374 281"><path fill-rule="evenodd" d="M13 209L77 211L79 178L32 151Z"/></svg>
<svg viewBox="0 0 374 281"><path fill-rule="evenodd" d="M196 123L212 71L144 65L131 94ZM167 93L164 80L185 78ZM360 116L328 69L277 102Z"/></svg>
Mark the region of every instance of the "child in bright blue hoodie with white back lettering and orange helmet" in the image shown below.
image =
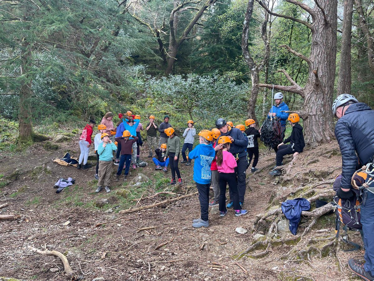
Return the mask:
<svg viewBox="0 0 374 281"><path fill-rule="evenodd" d="M215 151L210 143L213 141L212 132L202 130L199 133L200 144L188 153L189 159L195 159L193 162L193 180L196 182L199 191L200 218L193 220L193 227L208 227L208 209L209 209L209 188L211 184L211 164L215 157ZM239 200L239 199L238 199Z"/></svg>

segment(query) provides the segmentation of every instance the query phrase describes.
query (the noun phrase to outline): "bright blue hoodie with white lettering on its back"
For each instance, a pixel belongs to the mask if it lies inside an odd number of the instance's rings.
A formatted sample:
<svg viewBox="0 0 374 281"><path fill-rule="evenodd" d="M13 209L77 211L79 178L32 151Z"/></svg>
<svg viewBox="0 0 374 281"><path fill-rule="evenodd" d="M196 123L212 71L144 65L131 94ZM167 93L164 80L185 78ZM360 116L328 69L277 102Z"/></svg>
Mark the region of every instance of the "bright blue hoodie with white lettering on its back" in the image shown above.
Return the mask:
<svg viewBox="0 0 374 281"><path fill-rule="evenodd" d="M188 158L196 159L193 165L193 180L199 184L210 184L212 171L210 169L215 157L212 144L199 144L189 154Z"/></svg>

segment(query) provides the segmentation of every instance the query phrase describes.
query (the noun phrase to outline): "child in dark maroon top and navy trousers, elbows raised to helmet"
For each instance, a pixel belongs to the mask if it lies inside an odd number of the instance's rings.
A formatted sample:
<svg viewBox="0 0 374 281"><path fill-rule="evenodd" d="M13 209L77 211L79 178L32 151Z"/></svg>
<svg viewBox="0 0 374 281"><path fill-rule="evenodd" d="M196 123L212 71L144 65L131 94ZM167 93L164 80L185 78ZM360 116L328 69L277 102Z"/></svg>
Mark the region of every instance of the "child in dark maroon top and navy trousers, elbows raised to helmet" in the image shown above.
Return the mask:
<svg viewBox="0 0 374 281"><path fill-rule="evenodd" d="M123 166L125 166L125 175L123 176L123 180L126 181L131 164L133 144L136 143L137 140L138 137L132 136L128 130L123 131L122 137L116 138L116 141L121 144L121 158L117 170L117 177L114 181L119 181L119 176L122 173Z"/></svg>

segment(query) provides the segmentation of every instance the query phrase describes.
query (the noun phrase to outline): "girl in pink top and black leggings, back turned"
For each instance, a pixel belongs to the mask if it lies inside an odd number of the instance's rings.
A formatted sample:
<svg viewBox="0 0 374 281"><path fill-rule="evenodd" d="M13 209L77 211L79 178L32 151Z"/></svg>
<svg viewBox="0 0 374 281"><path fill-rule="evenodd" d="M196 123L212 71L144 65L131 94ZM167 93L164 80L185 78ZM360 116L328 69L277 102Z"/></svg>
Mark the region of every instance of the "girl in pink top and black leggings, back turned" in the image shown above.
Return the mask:
<svg viewBox="0 0 374 281"><path fill-rule="evenodd" d="M218 139L218 145L215 147L217 151L216 162L219 172L219 185L220 185L220 216L224 217L227 214L226 209L226 186L229 184L229 189L233 195L233 207L235 211L235 216L239 217L245 215L247 210L242 210L239 204L239 194L237 193L237 183L235 167L237 167L234 155L232 155L230 150L230 144L232 141L227 136L221 136Z"/></svg>

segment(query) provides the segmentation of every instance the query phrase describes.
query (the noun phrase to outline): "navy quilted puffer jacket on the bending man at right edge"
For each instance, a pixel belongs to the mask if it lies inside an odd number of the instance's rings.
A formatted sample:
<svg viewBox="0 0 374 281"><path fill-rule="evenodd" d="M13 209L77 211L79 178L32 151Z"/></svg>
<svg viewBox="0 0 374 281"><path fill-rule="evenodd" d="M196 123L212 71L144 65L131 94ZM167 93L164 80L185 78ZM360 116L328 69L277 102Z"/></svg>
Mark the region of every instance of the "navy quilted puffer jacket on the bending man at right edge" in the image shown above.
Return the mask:
<svg viewBox="0 0 374 281"><path fill-rule="evenodd" d="M354 103L335 126L341 151L341 188L351 188L356 169L374 155L374 110L366 103ZM358 159L357 159L357 155Z"/></svg>

